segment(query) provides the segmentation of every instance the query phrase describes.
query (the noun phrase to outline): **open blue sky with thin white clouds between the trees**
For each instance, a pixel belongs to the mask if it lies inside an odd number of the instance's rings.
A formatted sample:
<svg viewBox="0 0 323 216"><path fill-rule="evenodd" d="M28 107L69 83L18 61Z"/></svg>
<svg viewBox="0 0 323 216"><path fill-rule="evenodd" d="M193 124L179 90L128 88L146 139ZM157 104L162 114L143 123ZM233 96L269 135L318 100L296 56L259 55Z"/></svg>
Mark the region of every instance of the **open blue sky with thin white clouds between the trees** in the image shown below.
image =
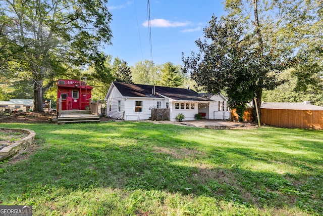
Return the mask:
<svg viewBox="0 0 323 216"><path fill-rule="evenodd" d="M195 40L203 37L203 28L212 14L224 14L222 0L149 1L152 60L155 64L182 64L182 52L198 51ZM110 0L112 43L105 54L125 60L129 66L150 60L147 26L147 1Z"/></svg>

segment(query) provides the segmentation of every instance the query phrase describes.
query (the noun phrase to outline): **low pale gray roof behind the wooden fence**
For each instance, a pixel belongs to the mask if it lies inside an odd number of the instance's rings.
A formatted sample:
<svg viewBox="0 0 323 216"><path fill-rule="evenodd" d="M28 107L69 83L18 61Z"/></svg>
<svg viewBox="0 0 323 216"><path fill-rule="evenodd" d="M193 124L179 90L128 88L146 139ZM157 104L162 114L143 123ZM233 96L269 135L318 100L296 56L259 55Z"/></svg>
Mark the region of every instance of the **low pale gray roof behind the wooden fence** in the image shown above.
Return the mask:
<svg viewBox="0 0 323 216"><path fill-rule="evenodd" d="M323 107L303 103L262 102L265 109L323 110Z"/></svg>

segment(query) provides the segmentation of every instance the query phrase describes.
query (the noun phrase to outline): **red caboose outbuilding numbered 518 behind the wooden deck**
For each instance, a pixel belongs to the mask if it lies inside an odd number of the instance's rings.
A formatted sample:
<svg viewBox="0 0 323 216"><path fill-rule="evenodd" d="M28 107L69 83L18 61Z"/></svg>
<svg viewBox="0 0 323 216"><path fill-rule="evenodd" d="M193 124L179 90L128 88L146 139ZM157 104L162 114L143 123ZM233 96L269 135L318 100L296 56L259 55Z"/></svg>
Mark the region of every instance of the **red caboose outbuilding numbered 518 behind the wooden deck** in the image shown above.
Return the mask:
<svg viewBox="0 0 323 216"><path fill-rule="evenodd" d="M59 79L57 82L57 107L61 110L88 110L92 87L86 82L73 79Z"/></svg>

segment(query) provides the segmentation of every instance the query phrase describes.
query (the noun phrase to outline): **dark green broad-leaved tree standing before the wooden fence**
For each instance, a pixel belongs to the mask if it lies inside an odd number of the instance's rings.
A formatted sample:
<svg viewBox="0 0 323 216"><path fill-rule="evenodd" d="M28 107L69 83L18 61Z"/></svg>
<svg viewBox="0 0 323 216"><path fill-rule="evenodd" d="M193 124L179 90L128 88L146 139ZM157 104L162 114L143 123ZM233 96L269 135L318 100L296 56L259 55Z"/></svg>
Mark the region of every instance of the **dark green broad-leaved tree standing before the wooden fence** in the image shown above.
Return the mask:
<svg viewBox="0 0 323 216"><path fill-rule="evenodd" d="M196 40L199 53L187 58L183 54L184 71L207 92L224 90L239 116L254 97L260 106L263 89L281 83L276 77L282 69L278 51L263 42L257 27L247 33L246 29L246 23L234 17L218 21L213 16L204 28L204 40Z"/></svg>

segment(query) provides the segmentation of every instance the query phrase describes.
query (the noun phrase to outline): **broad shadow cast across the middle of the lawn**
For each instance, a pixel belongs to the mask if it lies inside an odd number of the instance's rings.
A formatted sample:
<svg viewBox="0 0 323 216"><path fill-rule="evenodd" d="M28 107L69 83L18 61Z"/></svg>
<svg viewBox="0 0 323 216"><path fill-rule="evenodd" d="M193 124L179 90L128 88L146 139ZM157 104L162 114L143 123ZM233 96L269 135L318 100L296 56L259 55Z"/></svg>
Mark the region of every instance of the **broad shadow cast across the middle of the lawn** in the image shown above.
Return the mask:
<svg viewBox="0 0 323 216"><path fill-rule="evenodd" d="M315 167L322 162L322 157L311 160L306 155L234 145L205 146L203 151L203 142L190 138L196 133L206 133L214 139L230 133L256 133L262 139L275 139L280 146L283 142L279 141L280 136L291 136L286 131L280 134L277 129L269 129L269 132L277 132L276 136L270 136L268 129L265 132L217 132L142 122L33 127L30 129L36 132L42 146L28 160L3 166L0 180L3 203L13 204L17 197L37 197L55 188L109 187L203 195L256 207L296 205L303 210L323 213L323 174ZM251 140L256 139L249 135ZM298 142L294 142L292 148L307 146L313 151L316 147L302 143L303 139ZM274 165L279 162L287 166L302 163L305 168L299 168L305 171L278 174L275 170L247 169L243 166L246 161Z"/></svg>

